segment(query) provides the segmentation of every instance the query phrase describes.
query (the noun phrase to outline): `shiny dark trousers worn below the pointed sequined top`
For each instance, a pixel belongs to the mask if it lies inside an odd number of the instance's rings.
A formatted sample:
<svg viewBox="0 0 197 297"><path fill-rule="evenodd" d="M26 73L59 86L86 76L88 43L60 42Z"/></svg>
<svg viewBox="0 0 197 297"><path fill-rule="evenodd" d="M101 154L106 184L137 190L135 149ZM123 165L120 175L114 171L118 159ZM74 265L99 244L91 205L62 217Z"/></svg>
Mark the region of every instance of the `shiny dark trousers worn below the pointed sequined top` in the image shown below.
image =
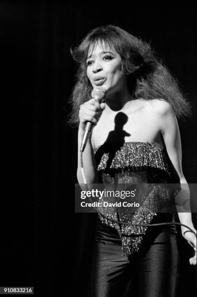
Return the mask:
<svg viewBox="0 0 197 297"><path fill-rule="evenodd" d="M97 223L88 296L176 296L179 277L176 231L169 227L149 227L145 236L143 253L121 256L118 233Z"/></svg>

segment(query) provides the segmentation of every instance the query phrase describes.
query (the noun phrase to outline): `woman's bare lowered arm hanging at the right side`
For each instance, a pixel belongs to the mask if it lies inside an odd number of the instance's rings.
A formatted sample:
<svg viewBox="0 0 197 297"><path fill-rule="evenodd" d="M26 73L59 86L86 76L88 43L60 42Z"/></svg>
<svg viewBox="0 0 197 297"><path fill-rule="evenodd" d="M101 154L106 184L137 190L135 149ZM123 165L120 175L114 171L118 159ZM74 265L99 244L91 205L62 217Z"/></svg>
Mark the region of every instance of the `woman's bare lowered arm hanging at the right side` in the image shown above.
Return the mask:
<svg viewBox="0 0 197 297"><path fill-rule="evenodd" d="M163 140L165 142L168 156L172 162L172 165L174 166L174 169L176 170L179 176L181 190L182 190L182 193L184 193L184 200L189 201L189 207L190 207L190 190L189 190L188 183L182 172L181 141L180 141L180 133L179 133L177 118L173 112L172 107L165 101L161 101L160 105L158 104L157 109L159 112L158 114L160 116L161 133L163 135ZM183 200L181 200L182 196L180 191L180 195L177 195L177 198L176 198L176 202L178 205L180 205L181 210L183 209L183 204L182 204ZM178 211L180 223L187 225L193 231L196 232L192 222L191 212L190 211L188 212L188 209L187 209L187 212L179 212L179 206L177 207L177 211ZM181 226L181 232L183 237L196 250L196 247L197 247L196 236L192 232L188 232L188 229L183 226ZM195 262L196 262L195 257L190 259L190 264L196 264Z"/></svg>

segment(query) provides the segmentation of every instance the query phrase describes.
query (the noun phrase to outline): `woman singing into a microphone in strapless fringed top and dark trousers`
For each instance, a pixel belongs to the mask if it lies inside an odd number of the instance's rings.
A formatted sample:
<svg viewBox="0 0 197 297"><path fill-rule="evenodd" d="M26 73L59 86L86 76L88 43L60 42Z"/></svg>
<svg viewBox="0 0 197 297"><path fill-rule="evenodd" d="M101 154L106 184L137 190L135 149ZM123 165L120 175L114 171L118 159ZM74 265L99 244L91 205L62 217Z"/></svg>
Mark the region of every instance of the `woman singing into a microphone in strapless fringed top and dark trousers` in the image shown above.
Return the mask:
<svg viewBox="0 0 197 297"><path fill-rule="evenodd" d="M70 118L70 123L79 125L79 183L83 183L81 143L90 122L93 129L83 152L87 183L135 183L140 190L142 184L187 184L176 117L189 115L190 105L150 46L107 25L88 33L72 56L79 63ZM101 91L101 100L92 91ZM103 213L108 219L98 214L86 296L176 296L179 253L175 225L140 228L120 224L174 222L173 213L155 213L158 197L152 199L154 195L149 192L144 198L148 210L142 205L132 215ZM190 212L179 213L179 220L196 232ZM195 234L185 227L181 232L196 251ZM196 265L196 254L189 261Z"/></svg>

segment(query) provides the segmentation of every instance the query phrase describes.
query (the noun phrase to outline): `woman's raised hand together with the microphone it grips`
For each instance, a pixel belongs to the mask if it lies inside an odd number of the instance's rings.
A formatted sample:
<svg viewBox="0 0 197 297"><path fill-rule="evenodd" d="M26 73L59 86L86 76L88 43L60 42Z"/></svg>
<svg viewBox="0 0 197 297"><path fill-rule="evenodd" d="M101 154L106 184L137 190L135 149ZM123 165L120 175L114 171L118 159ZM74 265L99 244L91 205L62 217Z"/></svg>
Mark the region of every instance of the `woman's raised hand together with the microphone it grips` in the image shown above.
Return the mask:
<svg viewBox="0 0 197 297"><path fill-rule="evenodd" d="M102 86L97 86L92 90L92 99L80 106L80 126L84 130L84 136L80 151L84 151L84 148L86 147L86 143L90 136L91 129L93 125L97 124L100 116L102 115L103 110L105 109L104 101L106 99L106 96L106 89Z"/></svg>

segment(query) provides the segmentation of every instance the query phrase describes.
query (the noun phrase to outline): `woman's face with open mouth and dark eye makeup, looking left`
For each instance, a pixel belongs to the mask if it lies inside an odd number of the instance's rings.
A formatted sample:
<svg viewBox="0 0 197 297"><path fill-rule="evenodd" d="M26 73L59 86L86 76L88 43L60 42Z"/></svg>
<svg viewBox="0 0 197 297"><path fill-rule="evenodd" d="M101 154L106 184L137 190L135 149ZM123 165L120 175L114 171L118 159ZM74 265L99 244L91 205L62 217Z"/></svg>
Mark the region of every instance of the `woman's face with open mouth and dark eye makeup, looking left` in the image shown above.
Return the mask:
<svg viewBox="0 0 197 297"><path fill-rule="evenodd" d="M93 51L90 48L87 58L87 76L93 88L102 85L108 94L125 87L126 75L122 70L121 57L105 44L97 44Z"/></svg>

